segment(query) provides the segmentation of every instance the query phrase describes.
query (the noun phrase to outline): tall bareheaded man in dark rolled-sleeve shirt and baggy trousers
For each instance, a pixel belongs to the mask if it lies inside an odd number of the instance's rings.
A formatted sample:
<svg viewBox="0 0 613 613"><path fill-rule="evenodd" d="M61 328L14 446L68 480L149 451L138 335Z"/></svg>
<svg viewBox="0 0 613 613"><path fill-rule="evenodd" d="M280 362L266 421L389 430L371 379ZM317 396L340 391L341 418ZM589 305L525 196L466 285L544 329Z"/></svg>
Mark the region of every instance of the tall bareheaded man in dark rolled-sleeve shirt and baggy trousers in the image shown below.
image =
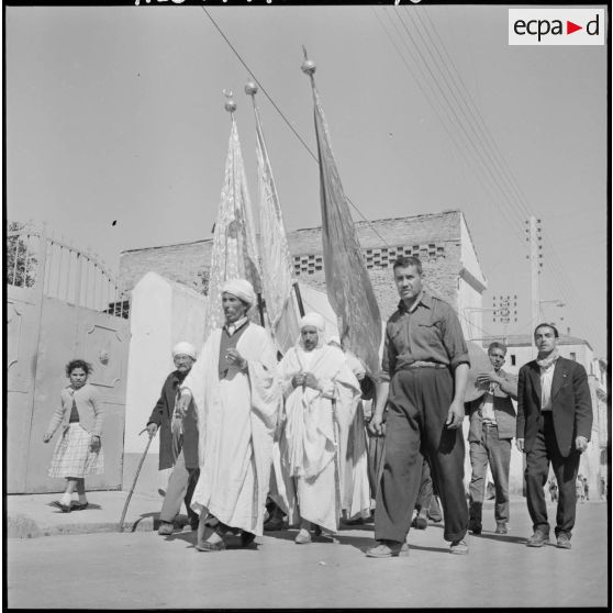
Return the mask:
<svg viewBox="0 0 613 613"><path fill-rule="evenodd" d="M369 427L383 433L386 456L375 510L378 545L366 553L408 555L405 544L417 499L423 455L431 460L450 553L467 554L468 508L464 490L464 397L468 349L452 306L423 289L422 264L400 257L393 265L400 294L389 319L377 406Z"/></svg>

